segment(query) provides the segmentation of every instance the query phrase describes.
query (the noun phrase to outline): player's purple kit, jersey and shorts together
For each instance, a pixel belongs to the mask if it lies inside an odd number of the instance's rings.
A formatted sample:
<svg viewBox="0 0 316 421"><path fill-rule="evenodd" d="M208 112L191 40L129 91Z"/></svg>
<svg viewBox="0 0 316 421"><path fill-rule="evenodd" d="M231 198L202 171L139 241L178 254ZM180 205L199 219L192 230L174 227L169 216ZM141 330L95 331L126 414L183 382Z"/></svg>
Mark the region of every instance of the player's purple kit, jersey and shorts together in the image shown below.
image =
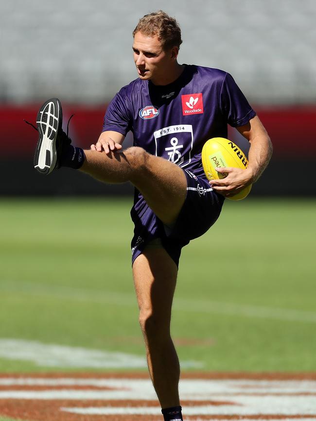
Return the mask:
<svg viewBox="0 0 316 421"><path fill-rule="evenodd" d="M106 110L103 131L126 135L131 130L135 146L186 170L189 189L186 202L191 203L190 209L186 207L188 203L183 206L182 219L178 221L180 228L176 230L185 235L185 240L177 235L172 241L165 238L161 221L135 189L131 210L135 224L131 245L133 260L146 242L160 237L164 248L178 264L181 247L209 229L218 218L224 198L209 188L201 160L203 145L211 137L227 138L227 124L242 126L255 115L233 78L222 70L209 67L185 65L180 77L166 86L136 79L116 94ZM189 186L191 182L194 185ZM199 192L198 198L196 195L191 198L194 191ZM208 195L205 203L204 195ZM203 226L197 227L195 223L191 230L189 223L182 226L180 222L189 220L193 208L198 208L194 215L201 219Z"/></svg>

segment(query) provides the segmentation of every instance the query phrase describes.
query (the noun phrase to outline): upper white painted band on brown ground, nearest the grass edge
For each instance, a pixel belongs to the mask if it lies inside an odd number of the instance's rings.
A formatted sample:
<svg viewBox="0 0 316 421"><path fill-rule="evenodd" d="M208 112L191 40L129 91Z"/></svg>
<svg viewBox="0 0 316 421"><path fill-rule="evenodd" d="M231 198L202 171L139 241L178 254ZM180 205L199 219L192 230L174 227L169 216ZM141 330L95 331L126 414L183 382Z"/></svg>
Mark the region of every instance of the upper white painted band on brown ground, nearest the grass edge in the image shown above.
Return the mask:
<svg viewBox="0 0 316 421"><path fill-rule="evenodd" d="M104 396L106 399L141 399L150 400L152 396L155 395L154 388L150 380L147 379L131 379L131 378L57 378L57 379L47 379L47 378L13 378L13 377L4 377L0 378L0 386L29 386L29 390L2 390L0 391L0 396L3 396L3 393L9 393L11 396L20 397L25 393L25 396L34 396L37 394L38 397L45 396L57 396L58 393L64 395L64 393L71 393L71 396L81 396L82 390L75 389L58 389L60 386L86 386L87 390L91 392L91 396L94 396L93 393L96 393L95 396ZM53 390L32 390L33 386L49 386L56 387ZM112 390L89 390L89 386L93 387L108 387ZM144 393L146 391L146 393ZM236 393L247 396L252 393L262 393L266 395L274 396L278 393L278 396L285 396L290 393L316 393L316 380L230 380L230 379L221 379L221 380L202 380L202 379L181 379L179 384L179 391L183 399L190 399L193 401L199 400L213 400L214 396L217 397L228 397L233 396L236 398ZM100 392L100 394L99 394ZM16 394L15 394L16 393ZM86 391L84 391L86 393ZM316 399L310 395L302 395L305 399L305 396L311 399ZM234 400L233 399L233 400ZM259 398L258 398L259 399ZM291 399L296 399L291 397Z"/></svg>

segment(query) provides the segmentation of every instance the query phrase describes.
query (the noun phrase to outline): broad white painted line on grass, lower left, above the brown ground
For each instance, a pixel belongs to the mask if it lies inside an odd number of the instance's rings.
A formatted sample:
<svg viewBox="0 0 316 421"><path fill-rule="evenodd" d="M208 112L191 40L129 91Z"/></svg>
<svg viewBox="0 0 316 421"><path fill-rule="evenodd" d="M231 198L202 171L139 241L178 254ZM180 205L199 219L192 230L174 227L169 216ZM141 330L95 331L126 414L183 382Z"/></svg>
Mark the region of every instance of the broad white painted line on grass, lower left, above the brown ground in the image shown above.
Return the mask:
<svg viewBox="0 0 316 421"><path fill-rule="evenodd" d="M43 367L146 368L145 357L38 341L0 338L0 358L32 361ZM202 368L197 361L183 361L185 368Z"/></svg>

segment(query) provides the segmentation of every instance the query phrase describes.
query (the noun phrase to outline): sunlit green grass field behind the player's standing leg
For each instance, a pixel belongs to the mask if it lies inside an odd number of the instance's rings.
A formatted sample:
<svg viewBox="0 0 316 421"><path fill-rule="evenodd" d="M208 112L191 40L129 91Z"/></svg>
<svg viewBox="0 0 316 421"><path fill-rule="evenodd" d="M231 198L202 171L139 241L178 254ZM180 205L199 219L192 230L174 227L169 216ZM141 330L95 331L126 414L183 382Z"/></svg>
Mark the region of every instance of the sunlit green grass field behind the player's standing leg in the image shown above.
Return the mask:
<svg viewBox="0 0 316 421"><path fill-rule="evenodd" d="M0 201L0 338L144 354L130 206ZM225 203L182 252L172 323L180 360L202 370L316 371L315 214L313 200ZM56 368L0 358L0 372L44 370Z"/></svg>

